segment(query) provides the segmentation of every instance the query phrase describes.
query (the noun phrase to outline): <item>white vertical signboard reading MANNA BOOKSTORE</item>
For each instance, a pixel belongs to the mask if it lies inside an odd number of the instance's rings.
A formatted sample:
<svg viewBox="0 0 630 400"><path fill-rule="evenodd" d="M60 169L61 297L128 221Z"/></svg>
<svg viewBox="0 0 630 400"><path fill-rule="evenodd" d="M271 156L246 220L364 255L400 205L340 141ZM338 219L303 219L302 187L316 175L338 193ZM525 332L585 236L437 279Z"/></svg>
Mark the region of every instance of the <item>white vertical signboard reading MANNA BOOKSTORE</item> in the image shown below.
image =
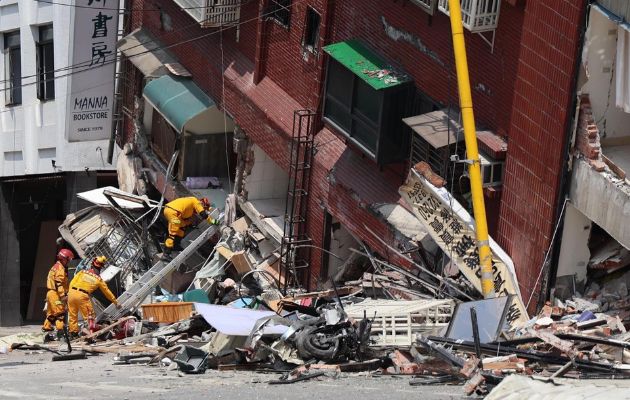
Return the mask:
<svg viewBox="0 0 630 400"><path fill-rule="evenodd" d="M118 2L75 0L73 10L68 141L107 139L114 110Z"/></svg>

